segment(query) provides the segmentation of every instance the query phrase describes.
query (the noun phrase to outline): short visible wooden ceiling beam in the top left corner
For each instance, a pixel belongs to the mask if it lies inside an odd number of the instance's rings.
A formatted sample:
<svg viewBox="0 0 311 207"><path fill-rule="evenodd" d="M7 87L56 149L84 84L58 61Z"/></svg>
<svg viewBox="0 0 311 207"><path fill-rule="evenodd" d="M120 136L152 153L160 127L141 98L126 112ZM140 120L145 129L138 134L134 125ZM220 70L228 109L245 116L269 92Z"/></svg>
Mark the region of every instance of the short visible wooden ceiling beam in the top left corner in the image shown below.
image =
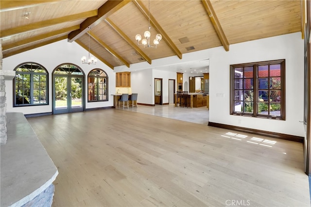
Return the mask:
<svg viewBox="0 0 311 207"><path fill-rule="evenodd" d="M57 2L60 0L1 0L0 12L25 9L37 6L38 4Z"/></svg>

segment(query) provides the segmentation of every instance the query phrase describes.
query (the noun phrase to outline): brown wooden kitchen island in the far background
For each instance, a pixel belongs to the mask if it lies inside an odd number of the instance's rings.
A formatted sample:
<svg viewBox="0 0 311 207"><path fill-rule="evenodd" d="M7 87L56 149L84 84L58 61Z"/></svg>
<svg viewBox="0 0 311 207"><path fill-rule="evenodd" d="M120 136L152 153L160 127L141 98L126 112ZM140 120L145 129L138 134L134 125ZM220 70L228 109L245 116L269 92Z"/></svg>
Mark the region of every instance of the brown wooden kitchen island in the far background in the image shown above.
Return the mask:
<svg viewBox="0 0 311 207"><path fill-rule="evenodd" d="M182 97L177 97L177 94L174 94L175 96L175 107L177 107L177 104L180 103L187 103L187 105L183 105L184 107L190 107L190 108L198 108L206 106L209 108L209 95L204 93L189 93L188 95L184 95ZM185 96L187 100L185 100ZM181 100L180 100L181 99Z"/></svg>

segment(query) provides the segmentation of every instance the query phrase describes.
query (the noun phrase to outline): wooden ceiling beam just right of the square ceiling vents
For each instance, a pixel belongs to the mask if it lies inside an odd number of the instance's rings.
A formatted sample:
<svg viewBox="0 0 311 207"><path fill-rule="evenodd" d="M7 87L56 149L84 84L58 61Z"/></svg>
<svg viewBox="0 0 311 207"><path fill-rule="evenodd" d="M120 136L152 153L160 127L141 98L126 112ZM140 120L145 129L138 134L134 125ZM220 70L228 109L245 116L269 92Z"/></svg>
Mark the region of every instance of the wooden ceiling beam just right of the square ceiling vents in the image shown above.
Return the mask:
<svg viewBox="0 0 311 207"><path fill-rule="evenodd" d="M227 37L225 36L225 32L222 28L222 25L220 24L217 16L216 16L216 13L214 11L214 8L213 8L213 5L212 3L210 2L210 0L202 0L203 2L203 5L207 11L207 14L218 34L218 37L220 39L220 41L222 42L224 48L225 48L225 51L229 51L229 43L228 43L228 40L227 40Z"/></svg>

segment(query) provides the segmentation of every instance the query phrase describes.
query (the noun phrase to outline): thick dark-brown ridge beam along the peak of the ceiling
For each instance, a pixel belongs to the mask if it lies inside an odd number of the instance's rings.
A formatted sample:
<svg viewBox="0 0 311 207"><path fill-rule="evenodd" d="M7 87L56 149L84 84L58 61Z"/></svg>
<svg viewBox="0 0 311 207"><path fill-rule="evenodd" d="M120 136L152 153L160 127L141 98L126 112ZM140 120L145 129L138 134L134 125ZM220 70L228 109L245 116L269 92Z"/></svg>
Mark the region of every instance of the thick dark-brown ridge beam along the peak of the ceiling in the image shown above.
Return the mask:
<svg viewBox="0 0 311 207"><path fill-rule="evenodd" d="M85 21L83 21L80 25L80 29L76 31L72 31L69 33L69 42L73 42L79 37L81 37L83 34L89 31L89 27L97 25L100 21L102 21L104 18L112 15L116 11L118 11L120 8L122 8L124 5L129 3L128 0L108 0L106 1L99 9L98 9L98 15L92 16L87 18Z"/></svg>

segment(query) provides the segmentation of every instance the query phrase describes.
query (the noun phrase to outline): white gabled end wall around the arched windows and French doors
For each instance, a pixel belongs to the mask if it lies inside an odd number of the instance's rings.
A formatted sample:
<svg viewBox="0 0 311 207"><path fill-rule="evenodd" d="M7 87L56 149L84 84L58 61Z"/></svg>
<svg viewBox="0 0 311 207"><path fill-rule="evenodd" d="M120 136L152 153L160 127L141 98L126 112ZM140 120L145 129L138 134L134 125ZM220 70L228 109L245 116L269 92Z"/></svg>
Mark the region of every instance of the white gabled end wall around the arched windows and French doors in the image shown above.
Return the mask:
<svg viewBox="0 0 311 207"><path fill-rule="evenodd" d="M114 71L98 61L94 64L82 64L81 57L87 56L88 51L80 47L77 43L69 43L67 40L58 41L40 48L35 48L27 52L22 52L14 56L3 59L3 70L14 70L14 68L25 62L35 62L41 64L49 71L49 105L47 106L27 106L13 108L13 80L6 80L6 99L8 112L22 112L24 114L52 112L52 71L60 64L76 64L82 68L87 77L90 70L95 68L103 69L108 75L109 101L90 102L86 101L86 109L97 107L113 106L113 96L116 89L116 75ZM85 80L87 84L87 80ZM85 84L85 87L86 87ZM87 88L87 87L86 87ZM87 90L85 96L87 97Z"/></svg>

